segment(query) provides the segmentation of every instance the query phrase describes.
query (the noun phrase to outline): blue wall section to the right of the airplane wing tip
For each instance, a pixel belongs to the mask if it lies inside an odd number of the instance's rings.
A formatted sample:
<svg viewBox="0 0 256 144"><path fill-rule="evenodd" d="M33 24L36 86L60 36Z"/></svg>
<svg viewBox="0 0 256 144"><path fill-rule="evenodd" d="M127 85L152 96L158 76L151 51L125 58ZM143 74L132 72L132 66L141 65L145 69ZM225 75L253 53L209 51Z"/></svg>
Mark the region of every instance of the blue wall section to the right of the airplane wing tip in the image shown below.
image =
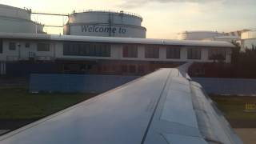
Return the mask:
<svg viewBox="0 0 256 144"><path fill-rule="evenodd" d="M200 83L208 94L256 96L256 79L192 78L192 80Z"/></svg>

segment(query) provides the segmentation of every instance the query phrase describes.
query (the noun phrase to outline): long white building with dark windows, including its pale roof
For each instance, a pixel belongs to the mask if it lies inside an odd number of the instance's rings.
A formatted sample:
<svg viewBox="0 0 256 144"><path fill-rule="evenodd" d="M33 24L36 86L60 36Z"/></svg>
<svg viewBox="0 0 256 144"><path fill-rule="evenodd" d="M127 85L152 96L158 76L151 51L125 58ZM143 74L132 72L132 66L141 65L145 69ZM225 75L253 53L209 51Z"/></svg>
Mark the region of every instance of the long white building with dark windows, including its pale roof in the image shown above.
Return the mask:
<svg viewBox="0 0 256 144"><path fill-rule="evenodd" d="M184 62L230 62L229 42L0 34L0 61L50 62L58 72L146 74Z"/></svg>

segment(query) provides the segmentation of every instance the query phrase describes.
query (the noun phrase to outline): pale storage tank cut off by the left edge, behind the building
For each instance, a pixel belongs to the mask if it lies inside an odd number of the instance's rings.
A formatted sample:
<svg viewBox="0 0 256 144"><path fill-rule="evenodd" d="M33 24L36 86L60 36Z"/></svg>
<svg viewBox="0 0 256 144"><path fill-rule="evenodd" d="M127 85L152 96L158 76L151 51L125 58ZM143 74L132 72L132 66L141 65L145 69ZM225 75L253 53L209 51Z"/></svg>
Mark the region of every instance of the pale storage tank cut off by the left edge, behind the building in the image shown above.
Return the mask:
<svg viewBox="0 0 256 144"><path fill-rule="evenodd" d="M30 18L30 10L0 5L0 32L43 33L43 26Z"/></svg>

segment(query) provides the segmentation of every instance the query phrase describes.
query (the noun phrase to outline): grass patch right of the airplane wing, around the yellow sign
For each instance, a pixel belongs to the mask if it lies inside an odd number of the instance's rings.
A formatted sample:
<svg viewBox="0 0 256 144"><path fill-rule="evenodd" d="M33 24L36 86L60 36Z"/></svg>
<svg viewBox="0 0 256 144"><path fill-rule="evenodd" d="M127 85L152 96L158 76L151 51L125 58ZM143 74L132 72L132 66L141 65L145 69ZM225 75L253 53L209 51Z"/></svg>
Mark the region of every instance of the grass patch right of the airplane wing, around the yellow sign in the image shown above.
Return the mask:
<svg viewBox="0 0 256 144"><path fill-rule="evenodd" d="M256 122L256 112L246 112L246 103L256 104L256 97L210 95L217 102L226 118L232 120L250 120Z"/></svg>

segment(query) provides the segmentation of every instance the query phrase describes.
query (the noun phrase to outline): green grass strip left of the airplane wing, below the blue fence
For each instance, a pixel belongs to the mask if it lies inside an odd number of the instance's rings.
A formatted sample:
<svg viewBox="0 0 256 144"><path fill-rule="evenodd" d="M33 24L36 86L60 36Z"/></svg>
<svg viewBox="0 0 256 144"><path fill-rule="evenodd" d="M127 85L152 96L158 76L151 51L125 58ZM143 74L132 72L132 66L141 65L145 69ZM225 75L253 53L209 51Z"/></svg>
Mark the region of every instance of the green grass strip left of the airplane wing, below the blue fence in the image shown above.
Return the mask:
<svg viewBox="0 0 256 144"><path fill-rule="evenodd" d="M0 119L38 119L96 94L30 94L24 87L0 88Z"/></svg>

